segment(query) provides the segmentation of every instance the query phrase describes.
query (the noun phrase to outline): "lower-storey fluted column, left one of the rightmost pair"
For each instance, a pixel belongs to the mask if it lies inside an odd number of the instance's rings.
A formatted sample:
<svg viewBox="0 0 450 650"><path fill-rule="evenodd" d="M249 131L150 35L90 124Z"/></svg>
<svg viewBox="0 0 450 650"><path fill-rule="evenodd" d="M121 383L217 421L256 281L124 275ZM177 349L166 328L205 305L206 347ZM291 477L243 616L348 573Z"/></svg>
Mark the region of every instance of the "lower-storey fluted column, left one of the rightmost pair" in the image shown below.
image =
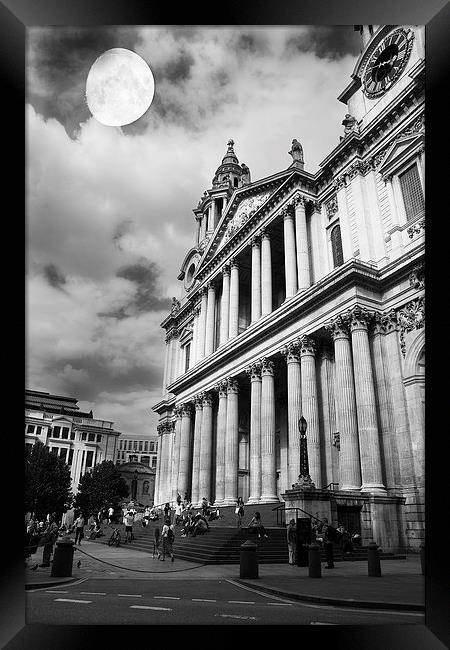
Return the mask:
<svg viewBox="0 0 450 650"><path fill-rule="evenodd" d="M340 434L339 489L359 490L361 467L358 420L348 318L338 316L325 327L331 332L334 340L336 421Z"/></svg>

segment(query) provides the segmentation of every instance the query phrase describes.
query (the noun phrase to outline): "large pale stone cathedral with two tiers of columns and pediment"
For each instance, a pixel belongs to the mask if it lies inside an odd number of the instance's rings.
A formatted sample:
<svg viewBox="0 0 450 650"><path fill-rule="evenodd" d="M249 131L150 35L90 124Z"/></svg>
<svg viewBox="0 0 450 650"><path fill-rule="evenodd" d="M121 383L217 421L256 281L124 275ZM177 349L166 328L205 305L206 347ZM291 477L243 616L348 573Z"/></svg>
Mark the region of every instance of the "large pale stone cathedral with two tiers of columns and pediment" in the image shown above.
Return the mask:
<svg viewBox="0 0 450 650"><path fill-rule="evenodd" d="M193 210L183 296L162 323L155 503L177 492L194 504L292 502L303 415L332 521L414 550L424 539L424 29L356 28L343 133L319 171L294 139L286 169L252 181L229 140Z"/></svg>

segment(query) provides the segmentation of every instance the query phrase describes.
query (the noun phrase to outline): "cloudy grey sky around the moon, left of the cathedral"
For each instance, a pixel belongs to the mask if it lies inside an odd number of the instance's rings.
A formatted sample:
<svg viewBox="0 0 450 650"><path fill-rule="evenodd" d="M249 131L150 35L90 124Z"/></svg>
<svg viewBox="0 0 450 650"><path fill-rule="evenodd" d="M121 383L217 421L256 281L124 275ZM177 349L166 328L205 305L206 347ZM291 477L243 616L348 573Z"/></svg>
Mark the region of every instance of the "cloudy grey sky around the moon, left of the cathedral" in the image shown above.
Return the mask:
<svg viewBox="0 0 450 650"><path fill-rule="evenodd" d="M122 128L85 98L91 65L115 47L155 80L150 108ZM252 181L289 167L294 138L318 171L343 135L337 96L360 48L352 25L28 29L27 388L156 433L160 323L227 141Z"/></svg>

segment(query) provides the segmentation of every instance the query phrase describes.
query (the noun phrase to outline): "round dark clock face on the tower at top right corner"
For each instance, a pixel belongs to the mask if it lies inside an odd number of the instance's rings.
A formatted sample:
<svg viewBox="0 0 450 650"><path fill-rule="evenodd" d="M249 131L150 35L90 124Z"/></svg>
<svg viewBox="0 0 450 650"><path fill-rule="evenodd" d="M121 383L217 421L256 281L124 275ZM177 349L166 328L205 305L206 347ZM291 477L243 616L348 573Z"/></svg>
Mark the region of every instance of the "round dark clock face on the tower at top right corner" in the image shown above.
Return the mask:
<svg viewBox="0 0 450 650"><path fill-rule="evenodd" d="M367 97L380 97L397 81L408 62L413 37L411 30L397 29L378 44L363 75Z"/></svg>

